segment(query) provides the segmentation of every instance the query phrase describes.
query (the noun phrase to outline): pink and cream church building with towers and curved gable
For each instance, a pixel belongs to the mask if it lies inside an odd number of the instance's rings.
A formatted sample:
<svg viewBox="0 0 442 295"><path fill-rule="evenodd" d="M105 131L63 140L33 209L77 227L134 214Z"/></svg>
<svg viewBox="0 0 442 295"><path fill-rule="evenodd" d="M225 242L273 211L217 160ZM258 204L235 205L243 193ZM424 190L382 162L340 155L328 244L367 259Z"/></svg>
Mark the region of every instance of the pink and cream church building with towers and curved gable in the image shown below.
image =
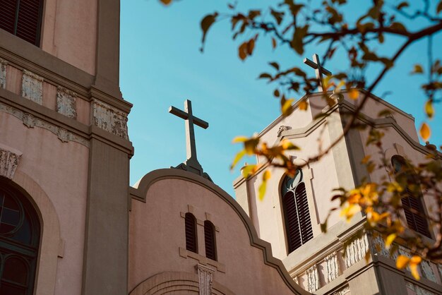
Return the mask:
<svg viewBox="0 0 442 295"><path fill-rule="evenodd" d="M412 117L376 97L370 103L369 118L378 107L394 111L370 121L389 128L388 155L421 159ZM313 150L311 138L339 136L339 111L349 105L318 111L329 113L318 135L323 121L295 104L262 136L297 138ZM331 188L380 177L358 167L372 152L364 133L350 133L323 168L295 179L275 171L262 203L260 172L238 179L236 201L196 155L129 186L131 107L119 90L119 0L1 1L0 294L441 294L440 265L425 262L415 281L370 236L344 257L342 243L362 215L351 224L333 217L325 235L318 228ZM286 237L287 193L308 208L300 239Z"/></svg>

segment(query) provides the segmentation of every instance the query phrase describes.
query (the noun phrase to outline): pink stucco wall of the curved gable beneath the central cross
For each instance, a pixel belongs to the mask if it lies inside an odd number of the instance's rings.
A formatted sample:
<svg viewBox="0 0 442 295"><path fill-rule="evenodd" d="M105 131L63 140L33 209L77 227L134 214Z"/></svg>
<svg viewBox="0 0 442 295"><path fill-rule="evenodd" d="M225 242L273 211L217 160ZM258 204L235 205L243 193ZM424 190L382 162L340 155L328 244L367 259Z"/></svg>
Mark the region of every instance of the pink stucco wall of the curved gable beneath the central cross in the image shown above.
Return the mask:
<svg viewBox="0 0 442 295"><path fill-rule="evenodd" d="M145 200L146 203L135 199L131 201L129 290L160 272L195 274L198 259L205 261L202 224L205 219L210 219L218 229L218 259L216 263L211 260L206 262L214 269L217 266L213 276L217 284L227 287L234 294L293 294L280 273L265 265L263 250L251 246L251 236L241 219L245 215L240 217L216 191L196 181L172 176L148 187ZM232 199L230 202L235 201ZM189 210L198 219L198 259L180 255L180 248L181 253L186 248L184 213Z"/></svg>

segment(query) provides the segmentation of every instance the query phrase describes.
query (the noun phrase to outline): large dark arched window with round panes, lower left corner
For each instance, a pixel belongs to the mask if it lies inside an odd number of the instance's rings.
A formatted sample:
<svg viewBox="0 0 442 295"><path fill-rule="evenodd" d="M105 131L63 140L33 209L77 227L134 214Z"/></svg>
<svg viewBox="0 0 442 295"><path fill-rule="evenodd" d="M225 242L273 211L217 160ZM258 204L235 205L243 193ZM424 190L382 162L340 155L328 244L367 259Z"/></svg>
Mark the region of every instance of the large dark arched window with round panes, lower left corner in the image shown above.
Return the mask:
<svg viewBox="0 0 442 295"><path fill-rule="evenodd" d="M34 293L40 222L18 190L0 179L0 294Z"/></svg>

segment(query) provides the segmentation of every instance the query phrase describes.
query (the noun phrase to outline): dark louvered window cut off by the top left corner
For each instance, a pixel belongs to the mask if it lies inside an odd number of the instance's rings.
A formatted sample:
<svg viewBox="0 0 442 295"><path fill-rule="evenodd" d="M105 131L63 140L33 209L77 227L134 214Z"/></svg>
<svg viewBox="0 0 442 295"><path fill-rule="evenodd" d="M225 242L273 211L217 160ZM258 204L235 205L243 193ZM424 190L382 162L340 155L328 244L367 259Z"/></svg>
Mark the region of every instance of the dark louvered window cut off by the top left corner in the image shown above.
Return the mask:
<svg viewBox="0 0 442 295"><path fill-rule="evenodd" d="M1 0L0 28L38 46L42 6L43 0Z"/></svg>

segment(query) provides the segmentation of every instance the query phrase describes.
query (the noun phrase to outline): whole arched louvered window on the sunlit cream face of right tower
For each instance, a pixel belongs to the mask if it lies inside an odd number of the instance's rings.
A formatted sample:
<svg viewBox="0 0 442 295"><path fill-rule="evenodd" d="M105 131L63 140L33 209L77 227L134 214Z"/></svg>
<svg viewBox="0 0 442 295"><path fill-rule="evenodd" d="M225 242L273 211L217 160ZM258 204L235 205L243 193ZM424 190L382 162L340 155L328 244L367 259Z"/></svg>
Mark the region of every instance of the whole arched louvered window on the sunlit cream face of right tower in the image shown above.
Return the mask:
<svg viewBox="0 0 442 295"><path fill-rule="evenodd" d="M309 202L301 169L298 169L294 178L285 177L281 192L287 246L291 253L313 238Z"/></svg>

